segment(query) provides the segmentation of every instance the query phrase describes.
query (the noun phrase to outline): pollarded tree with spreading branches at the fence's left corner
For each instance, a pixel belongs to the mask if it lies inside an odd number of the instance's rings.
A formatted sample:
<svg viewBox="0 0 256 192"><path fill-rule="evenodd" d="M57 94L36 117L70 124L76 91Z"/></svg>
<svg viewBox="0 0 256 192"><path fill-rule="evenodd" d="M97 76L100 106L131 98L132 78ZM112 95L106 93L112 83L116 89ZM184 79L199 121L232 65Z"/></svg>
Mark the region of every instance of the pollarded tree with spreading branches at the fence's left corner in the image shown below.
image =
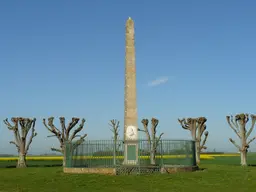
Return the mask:
<svg viewBox="0 0 256 192"><path fill-rule="evenodd" d="M43 124L48 129L48 131L53 133L53 135L51 135L50 137L58 138L58 140L60 142L60 148L59 149L51 148L51 150L62 153L63 166L65 167L66 166L66 149L65 149L66 144L67 143L72 144L71 150L73 151L75 148L77 148L80 144L83 143L87 134L84 134L82 136L77 135L84 128L85 119L82 119L81 124L78 126L78 128L76 128L73 131L72 134L71 134L71 130L78 124L80 119L73 117L72 121L68 124L67 127L66 127L66 123L65 123L65 117L60 117L59 119L60 119L61 129L58 129L53 124L54 117L48 118L48 124L46 124L46 120L43 119ZM78 137L78 139L75 140L75 138L77 138L77 137Z"/></svg>

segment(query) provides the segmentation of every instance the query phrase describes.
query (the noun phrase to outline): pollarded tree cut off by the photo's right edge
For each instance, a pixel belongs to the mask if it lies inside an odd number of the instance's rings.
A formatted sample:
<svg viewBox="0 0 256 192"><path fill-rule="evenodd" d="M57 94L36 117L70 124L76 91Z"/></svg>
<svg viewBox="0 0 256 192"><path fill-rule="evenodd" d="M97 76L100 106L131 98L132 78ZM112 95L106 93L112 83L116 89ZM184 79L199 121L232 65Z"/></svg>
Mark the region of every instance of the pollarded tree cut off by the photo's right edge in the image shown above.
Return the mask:
<svg viewBox="0 0 256 192"><path fill-rule="evenodd" d="M252 139L249 139L250 134L253 131L255 122L256 122L256 115L251 115L252 124L247 132L246 124L248 123L249 115L248 114L237 114L235 116L235 119L232 115L226 116L227 122L231 129L236 133L238 138L240 139L240 145L236 144L236 142L233 139L229 139L231 143L233 143L239 150L240 156L241 156L241 165L246 166L247 165L247 151L249 148L249 144L256 139L256 137L253 137Z"/></svg>

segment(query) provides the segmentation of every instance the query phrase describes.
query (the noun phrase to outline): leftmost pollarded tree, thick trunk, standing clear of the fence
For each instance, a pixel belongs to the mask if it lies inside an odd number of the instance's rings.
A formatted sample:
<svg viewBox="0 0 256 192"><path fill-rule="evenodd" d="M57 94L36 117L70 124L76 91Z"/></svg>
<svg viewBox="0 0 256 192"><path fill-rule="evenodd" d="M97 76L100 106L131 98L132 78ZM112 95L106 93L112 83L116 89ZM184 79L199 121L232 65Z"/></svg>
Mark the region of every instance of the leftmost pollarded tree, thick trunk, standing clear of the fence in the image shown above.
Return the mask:
<svg viewBox="0 0 256 192"><path fill-rule="evenodd" d="M28 153L29 147L33 141L33 138L37 135L35 132L36 119L13 117L11 118L11 121L13 125L8 121L8 119L4 120L4 124L14 133L15 140L10 141L10 144L14 144L17 147L19 153L17 168L24 168L27 167L26 155ZM27 140L30 130L31 134Z"/></svg>

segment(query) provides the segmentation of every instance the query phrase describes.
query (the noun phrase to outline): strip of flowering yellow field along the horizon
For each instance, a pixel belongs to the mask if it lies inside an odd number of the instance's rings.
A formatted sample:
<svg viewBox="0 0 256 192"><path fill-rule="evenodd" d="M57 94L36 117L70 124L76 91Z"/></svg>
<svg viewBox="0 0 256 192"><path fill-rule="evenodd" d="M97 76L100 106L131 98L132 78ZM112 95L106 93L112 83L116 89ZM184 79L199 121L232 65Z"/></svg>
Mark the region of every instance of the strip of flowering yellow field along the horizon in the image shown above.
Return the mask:
<svg viewBox="0 0 256 192"><path fill-rule="evenodd" d="M214 157L234 157L234 156L239 156L240 154L234 153L234 154L201 154L200 158L201 159L214 159ZM185 158L185 155L164 155L164 159L169 159L169 158ZM112 156L76 156L73 157L74 159L111 159L113 158ZM123 156L117 156L117 158L122 159ZM142 159L148 159L148 156L142 156ZM161 156L157 156L157 158L161 158ZM18 157L0 157L0 161L16 161ZM61 161L63 159L62 156L27 156L27 160L30 161Z"/></svg>

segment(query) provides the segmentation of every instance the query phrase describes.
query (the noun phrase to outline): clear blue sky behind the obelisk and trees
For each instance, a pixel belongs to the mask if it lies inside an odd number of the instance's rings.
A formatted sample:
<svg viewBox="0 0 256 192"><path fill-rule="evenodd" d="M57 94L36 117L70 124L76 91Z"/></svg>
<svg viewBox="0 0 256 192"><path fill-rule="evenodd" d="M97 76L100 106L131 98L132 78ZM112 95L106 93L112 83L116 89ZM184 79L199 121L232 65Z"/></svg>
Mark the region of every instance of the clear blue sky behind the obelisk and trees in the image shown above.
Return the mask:
<svg viewBox="0 0 256 192"><path fill-rule="evenodd" d="M31 153L58 146L42 125L50 116L86 118L90 139L109 139L113 118L123 131L130 16L139 119L157 117L165 138L188 139L177 118L205 116L209 150L235 150L225 116L256 110L255 7L253 0L1 1L0 119L37 118ZM164 80L149 86L157 79ZM0 153L15 153L12 137L1 123Z"/></svg>

